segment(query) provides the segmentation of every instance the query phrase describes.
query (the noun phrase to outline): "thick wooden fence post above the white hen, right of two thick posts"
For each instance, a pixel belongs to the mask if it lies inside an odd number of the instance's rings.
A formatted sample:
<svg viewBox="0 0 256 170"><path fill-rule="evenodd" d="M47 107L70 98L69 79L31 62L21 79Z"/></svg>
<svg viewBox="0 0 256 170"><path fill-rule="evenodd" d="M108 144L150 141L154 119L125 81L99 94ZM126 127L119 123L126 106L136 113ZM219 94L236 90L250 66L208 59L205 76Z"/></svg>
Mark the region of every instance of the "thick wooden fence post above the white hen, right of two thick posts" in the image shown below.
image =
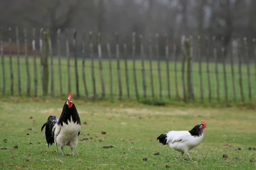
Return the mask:
<svg viewBox="0 0 256 170"><path fill-rule="evenodd" d="M188 99L192 99L192 88L191 88L191 68L190 68L190 40L186 39L185 41L186 47L186 59L187 59L187 91L188 91Z"/></svg>

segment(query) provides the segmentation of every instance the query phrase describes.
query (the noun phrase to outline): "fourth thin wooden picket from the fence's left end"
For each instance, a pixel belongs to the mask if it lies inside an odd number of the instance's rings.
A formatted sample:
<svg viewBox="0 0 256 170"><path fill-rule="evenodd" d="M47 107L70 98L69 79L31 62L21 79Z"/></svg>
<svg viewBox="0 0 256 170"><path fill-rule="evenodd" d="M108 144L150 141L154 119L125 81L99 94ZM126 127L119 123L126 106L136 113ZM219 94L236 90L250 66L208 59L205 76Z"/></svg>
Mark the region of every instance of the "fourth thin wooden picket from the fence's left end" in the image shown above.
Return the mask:
<svg viewBox="0 0 256 170"><path fill-rule="evenodd" d="M26 28L23 30L24 33L24 48L25 48L25 59L26 59L26 74L27 74L27 96L30 96L30 72L29 72L29 56L28 56L28 42L27 42L27 31Z"/></svg>

